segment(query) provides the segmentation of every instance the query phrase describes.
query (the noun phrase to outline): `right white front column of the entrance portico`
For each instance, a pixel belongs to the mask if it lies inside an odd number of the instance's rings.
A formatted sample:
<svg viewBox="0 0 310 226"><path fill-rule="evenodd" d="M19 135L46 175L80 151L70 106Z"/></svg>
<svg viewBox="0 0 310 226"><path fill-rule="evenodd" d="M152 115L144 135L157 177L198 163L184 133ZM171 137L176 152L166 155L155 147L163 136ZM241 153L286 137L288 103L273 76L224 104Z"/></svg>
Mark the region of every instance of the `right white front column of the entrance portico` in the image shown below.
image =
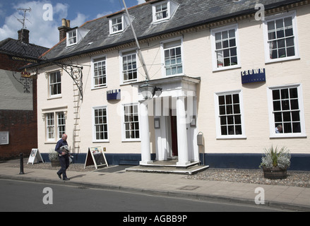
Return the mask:
<svg viewBox="0 0 310 226"><path fill-rule="evenodd" d="M178 158L177 165L188 165L189 153L187 150L186 112L185 97L177 98L177 138L178 138Z"/></svg>

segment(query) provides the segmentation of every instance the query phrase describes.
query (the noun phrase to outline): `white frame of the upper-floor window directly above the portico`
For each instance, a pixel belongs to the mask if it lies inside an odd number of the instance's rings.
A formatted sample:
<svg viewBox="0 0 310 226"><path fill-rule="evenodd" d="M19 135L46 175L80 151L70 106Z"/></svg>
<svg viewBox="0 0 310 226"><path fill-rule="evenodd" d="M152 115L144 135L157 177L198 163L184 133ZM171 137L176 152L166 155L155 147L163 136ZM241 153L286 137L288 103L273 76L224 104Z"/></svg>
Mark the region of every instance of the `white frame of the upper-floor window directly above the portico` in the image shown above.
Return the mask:
<svg viewBox="0 0 310 226"><path fill-rule="evenodd" d="M173 43L173 42L178 42L180 41L180 45L175 45L175 46L172 46L172 47L168 47L168 48L165 48L165 44L169 44L169 43ZM176 47L180 47L181 48L181 65L182 65L182 72L181 73L174 73L174 74L170 74L170 75L167 75L167 70L166 70L166 62L165 62L165 51L168 50L168 49L174 49ZM182 37L177 37L177 38L174 38L172 40L165 40L163 42L161 42L161 49L162 49L162 75L163 77L172 77L172 76L183 76L185 73L184 73L184 52L183 52L183 38ZM177 64L175 64L177 65Z"/></svg>

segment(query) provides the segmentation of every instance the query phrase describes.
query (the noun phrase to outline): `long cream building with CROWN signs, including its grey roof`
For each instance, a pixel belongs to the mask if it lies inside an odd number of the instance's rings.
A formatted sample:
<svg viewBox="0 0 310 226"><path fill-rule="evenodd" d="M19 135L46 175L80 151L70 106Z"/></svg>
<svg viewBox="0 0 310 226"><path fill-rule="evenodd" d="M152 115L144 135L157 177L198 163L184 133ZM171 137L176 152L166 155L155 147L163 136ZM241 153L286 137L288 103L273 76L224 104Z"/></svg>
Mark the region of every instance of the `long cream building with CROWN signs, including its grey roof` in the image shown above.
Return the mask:
<svg viewBox="0 0 310 226"><path fill-rule="evenodd" d="M247 2L148 1L68 30L34 67L40 152L67 133L76 162L101 146L112 165L257 168L278 145L309 170L309 1L262 1L258 17Z"/></svg>

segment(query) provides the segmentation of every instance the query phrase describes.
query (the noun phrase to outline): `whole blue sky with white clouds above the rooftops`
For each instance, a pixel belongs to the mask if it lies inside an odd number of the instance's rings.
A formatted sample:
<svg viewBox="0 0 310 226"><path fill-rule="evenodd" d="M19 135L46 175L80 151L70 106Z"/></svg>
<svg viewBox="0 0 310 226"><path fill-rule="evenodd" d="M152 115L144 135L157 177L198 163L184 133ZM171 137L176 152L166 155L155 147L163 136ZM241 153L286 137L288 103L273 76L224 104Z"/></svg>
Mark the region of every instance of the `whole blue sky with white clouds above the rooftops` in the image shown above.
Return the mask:
<svg viewBox="0 0 310 226"><path fill-rule="evenodd" d="M145 0L125 2L127 7L131 7L142 4ZM26 13L29 21L26 20L25 26L30 30L30 43L50 48L59 42L57 28L61 26L61 18L71 20L73 28L88 20L120 11L124 5L122 0L1 0L0 41L7 37L18 38L17 31L23 28L18 19L23 18L23 12L17 8L29 7L32 10Z"/></svg>

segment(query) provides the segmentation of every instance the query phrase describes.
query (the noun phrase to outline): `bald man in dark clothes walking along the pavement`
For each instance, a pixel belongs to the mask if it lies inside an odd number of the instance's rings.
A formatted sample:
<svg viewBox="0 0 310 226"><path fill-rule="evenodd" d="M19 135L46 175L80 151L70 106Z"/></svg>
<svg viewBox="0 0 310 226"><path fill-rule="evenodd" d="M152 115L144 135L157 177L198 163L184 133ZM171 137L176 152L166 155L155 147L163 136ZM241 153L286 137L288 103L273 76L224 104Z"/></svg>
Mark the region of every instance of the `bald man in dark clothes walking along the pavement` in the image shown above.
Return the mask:
<svg viewBox="0 0 310 226"><path fill-rule="evenodd" d="M62 174L62 179L64 181L68 181L68 177L66 175L66 169L69 167L69 153L68 153L68 143L66 141L67 139L66 133L64 133L61 136L61 139L57 142L55 150L57 153L59 153L59 162L61 165L61 169L57 172L58 177L61 179L61 174ZM66 146L66 148L64 148Z"/></svg>

